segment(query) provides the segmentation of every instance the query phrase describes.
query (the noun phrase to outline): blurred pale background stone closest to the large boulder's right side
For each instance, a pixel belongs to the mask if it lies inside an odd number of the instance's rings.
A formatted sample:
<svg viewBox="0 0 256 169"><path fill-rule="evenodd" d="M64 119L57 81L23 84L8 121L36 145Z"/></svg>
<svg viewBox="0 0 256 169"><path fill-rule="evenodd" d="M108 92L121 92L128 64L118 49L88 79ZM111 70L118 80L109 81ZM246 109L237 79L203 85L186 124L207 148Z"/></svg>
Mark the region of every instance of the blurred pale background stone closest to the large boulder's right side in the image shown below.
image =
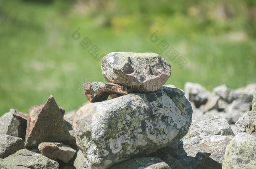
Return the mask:
<svg viewBox="0 0 256 169"><path fill-rule="evenodd" d="M212 97L212 93L207 91L206 88L201 86L198 83L185 83L185 96L189 101L195 103L196 108L199 108L201 105L205 104L209 97Z"/></svg>

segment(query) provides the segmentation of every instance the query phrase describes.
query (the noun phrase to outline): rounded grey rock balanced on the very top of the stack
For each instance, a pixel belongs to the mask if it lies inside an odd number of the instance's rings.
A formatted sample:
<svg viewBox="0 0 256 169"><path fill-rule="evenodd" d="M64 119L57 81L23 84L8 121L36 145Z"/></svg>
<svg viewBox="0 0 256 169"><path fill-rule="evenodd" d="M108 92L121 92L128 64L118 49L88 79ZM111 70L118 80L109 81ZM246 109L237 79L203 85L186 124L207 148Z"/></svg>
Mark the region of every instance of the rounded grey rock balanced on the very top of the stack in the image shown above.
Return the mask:
<svg viewBox="0 0 256 169"><path fill-rule="evenodd" d="M170 64L156 53L112 52L101 66L107 82L144 93L161 88L171 75Z"/></svg>

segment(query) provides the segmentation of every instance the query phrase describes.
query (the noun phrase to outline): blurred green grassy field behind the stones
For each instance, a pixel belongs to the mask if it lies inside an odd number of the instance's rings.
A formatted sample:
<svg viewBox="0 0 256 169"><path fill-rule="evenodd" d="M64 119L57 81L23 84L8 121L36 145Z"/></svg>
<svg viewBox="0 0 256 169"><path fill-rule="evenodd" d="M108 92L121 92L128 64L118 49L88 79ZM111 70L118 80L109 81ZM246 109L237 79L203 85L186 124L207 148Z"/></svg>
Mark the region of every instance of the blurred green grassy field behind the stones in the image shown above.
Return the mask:
<svg viewBox="0 0 256 169"><path fill-rule="evenodd" d="M72 33L80 28L80 40ZM157 30L159 41L150 35ZM167 83L211 90L256 82L256 3L253 0L7 0L0 1L0 115L24 113L53 95L66 111L87 100L79 86L102 81L101 54L155 52L172 66ZM180 69L158 48L166 40L188 62Z"/></svg>

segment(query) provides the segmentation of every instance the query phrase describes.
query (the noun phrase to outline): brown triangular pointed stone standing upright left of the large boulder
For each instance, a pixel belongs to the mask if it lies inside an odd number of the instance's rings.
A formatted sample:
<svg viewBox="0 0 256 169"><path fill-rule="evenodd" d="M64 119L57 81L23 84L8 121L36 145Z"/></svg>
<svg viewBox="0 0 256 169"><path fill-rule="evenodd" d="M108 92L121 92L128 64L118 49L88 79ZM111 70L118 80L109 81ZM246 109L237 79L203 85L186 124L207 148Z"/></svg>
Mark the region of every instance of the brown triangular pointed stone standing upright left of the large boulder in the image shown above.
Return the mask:
<svg viewBox="0 0 256 169"><path fill-rule="evenodd" d="M64 113L53 96L44 105L31 107L25 146L37 146L42 142L70 142L71 136L63 120Z"/></svg>

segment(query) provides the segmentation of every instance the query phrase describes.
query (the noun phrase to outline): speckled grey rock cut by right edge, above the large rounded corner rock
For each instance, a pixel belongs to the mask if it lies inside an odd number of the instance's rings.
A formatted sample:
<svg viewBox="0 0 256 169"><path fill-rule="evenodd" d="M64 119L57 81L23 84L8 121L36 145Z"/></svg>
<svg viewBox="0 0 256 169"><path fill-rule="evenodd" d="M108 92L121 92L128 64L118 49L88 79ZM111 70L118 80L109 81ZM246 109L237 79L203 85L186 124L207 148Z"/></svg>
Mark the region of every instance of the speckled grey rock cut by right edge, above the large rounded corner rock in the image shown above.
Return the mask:
<svg viewBox="0 0 256 169"><path fill-rule="evenodd" d="M256 111L247 111L235 123L238 133L246 132L256 136Z"/></svg>

